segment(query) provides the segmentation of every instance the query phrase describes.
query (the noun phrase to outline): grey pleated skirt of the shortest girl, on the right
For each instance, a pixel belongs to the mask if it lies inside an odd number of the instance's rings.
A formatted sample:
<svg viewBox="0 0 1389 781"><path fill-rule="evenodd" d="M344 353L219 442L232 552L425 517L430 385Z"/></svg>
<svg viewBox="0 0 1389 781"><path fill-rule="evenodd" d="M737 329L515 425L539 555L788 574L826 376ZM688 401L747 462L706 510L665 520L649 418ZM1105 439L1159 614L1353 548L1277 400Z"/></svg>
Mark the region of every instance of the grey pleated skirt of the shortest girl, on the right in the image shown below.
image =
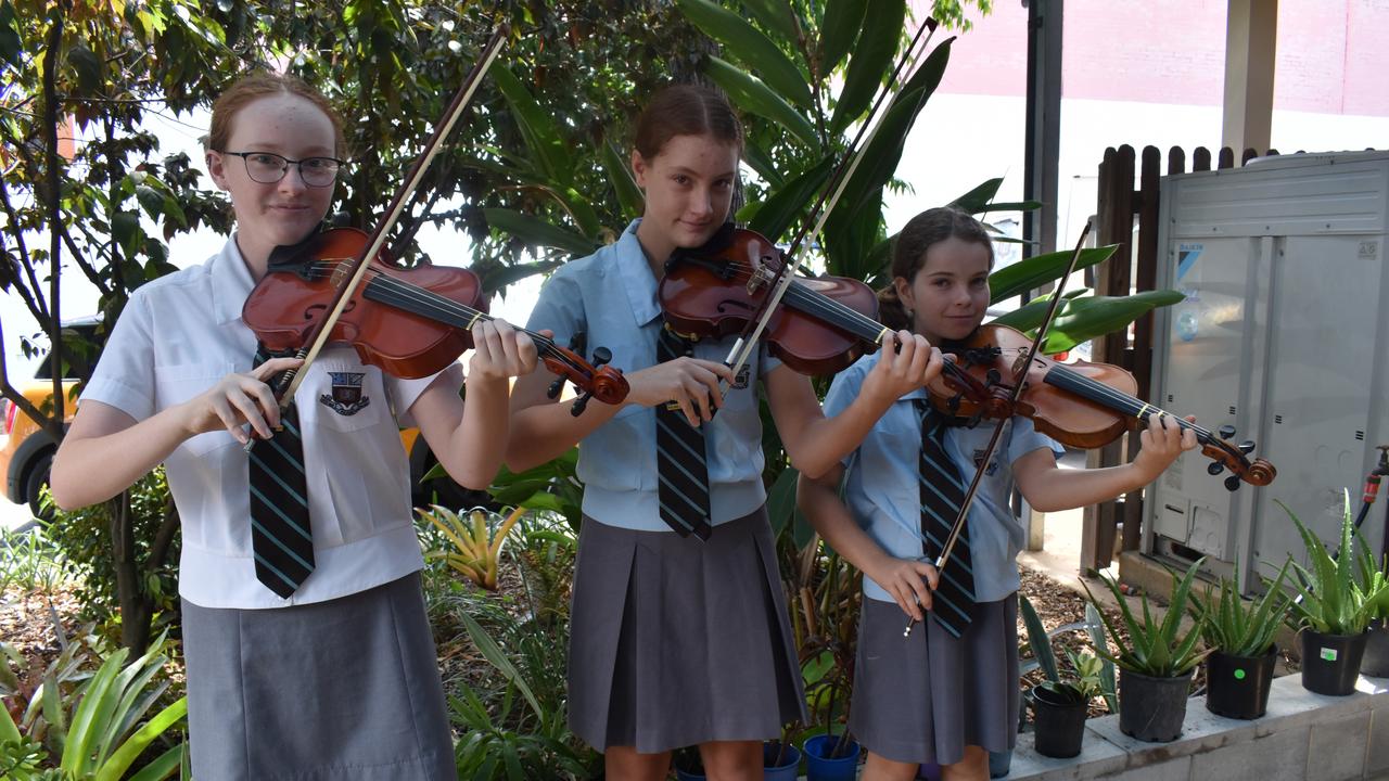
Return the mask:
<svg viewBox="0 0 1389 781"><path fill-rule="evenodd" d="M895 602L864 599L849 728L895 762L954 764L965 746L1011 749L1018 732L1018 598L978 606L953 638L929 617L903 638Z"/></svg>

